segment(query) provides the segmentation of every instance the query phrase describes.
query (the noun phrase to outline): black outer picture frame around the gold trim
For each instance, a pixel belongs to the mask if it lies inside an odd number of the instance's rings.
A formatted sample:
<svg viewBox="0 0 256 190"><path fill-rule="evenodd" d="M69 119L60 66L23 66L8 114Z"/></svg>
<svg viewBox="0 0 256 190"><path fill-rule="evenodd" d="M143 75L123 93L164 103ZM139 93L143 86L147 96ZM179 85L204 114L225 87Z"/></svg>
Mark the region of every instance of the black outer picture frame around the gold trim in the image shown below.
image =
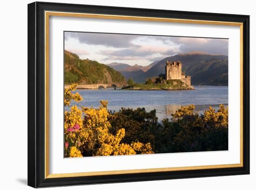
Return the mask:
<svg viewBox="0 0 256 190"><path fill-rule="evenodd" d="M243 23L243 167L85 177L45 177L45 11ZM249 15L62 3L28 4L28 185L34 188L249 174Z"/></svg>

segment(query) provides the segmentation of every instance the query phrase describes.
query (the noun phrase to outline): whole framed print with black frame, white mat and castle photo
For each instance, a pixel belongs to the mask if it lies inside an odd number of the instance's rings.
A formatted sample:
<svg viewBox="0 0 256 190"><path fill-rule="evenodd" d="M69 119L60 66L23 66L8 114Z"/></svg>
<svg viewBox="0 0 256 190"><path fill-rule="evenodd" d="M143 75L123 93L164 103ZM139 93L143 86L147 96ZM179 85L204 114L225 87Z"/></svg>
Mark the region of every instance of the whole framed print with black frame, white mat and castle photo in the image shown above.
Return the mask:
<svg viewBox="0 0 256 190"><path fill-rule="evenodd" d="M249 16L28 4L28 185L249 174Z"/></svg>

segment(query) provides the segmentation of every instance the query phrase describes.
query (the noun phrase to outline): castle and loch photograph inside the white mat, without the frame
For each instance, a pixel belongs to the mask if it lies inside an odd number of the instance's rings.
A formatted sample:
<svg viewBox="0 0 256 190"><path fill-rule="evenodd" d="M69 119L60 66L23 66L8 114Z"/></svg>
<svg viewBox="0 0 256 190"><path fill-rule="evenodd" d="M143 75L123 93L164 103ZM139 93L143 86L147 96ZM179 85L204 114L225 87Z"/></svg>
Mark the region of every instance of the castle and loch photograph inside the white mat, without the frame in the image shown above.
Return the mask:
<svg viewBox="0 0 256 190"><path fill-rule="evenodd" d="M63 40L64 157L229 151L229 39Z"/></svg>

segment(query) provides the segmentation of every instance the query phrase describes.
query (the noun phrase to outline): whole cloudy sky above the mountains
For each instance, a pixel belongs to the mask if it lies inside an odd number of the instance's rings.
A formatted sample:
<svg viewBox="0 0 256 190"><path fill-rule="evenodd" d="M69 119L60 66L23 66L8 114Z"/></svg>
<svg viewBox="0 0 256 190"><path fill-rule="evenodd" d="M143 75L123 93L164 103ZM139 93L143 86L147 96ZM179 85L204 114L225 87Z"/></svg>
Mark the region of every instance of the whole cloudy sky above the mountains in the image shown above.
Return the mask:
<svg viewBox="0 0 256 190"><path fill-rule="evenodd" d="M147 66L155 60L194 51L228 55L228 39L65 32L64 40L65 50L80 59L103 64Z"/></svg>

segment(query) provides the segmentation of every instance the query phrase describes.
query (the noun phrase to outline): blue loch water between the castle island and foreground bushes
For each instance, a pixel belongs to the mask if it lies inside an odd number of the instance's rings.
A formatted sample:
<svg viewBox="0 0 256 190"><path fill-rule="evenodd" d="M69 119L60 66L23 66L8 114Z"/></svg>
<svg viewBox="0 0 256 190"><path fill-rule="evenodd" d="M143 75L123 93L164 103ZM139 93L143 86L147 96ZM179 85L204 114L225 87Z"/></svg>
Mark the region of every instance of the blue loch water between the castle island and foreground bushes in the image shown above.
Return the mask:
<svg viewBox="0 0 256 190"><path fill-rule="evenodd" d="M171 114L182 105L195 105L195 111L203 113L209 106L216 110L220 104L228 105L228 86L194 86L195 90L181 91L138 91L138 90L114 90L78 89L83 100L79 103L72 101L71 105L94 106L100 105L100 100L108 100L108 109L119 111L121 107L144 107L146 111L156 110L159 121L163 118L171 118ZM70 106L65 107L69 110Z"/></svg>

